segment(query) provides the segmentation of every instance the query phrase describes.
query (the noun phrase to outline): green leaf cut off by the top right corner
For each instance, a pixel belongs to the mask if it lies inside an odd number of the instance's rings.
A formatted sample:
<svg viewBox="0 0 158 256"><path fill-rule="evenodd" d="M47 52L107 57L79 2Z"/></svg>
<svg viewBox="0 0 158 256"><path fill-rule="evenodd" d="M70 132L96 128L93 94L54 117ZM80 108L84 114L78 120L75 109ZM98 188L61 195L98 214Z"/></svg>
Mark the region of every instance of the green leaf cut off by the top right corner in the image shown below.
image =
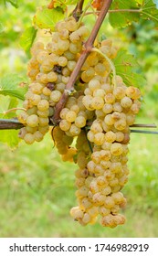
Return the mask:
<svg viewBox="0 0 158 256"><path fill-rule="evenodd" d="M143 19L151 19L156 25L158 25L158 9L153 3L153 0L144 0L142 3L142 13Z"/></svg>

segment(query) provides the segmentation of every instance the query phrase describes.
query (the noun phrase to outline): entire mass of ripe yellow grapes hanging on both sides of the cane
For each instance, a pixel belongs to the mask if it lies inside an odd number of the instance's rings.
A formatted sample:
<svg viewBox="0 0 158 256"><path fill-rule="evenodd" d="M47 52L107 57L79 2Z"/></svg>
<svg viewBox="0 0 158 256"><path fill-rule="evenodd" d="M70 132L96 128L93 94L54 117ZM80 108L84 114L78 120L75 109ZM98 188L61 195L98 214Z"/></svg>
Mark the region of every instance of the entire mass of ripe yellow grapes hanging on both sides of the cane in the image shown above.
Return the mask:
<svg viewBox="0 0 158 256"><path fill-rule="evenodd" d="M18 116L25 126L19 136L26 144L40 142L49 131L89 35L84 24L68 17L57 23L47 44L36 42L31 48L26 112ZM92 50L83 64L51 133L62 160L79 165L78 206L70 209L70 215L81 225L99 219L103 227L114 228L125 222L120 214L126 204L121 188L128 181L130 126L141 107L141 92L127 87L120 76L112 76L109 60L116 57L117 49L111 40L96 40L95 48L98 51Z"/></svg>

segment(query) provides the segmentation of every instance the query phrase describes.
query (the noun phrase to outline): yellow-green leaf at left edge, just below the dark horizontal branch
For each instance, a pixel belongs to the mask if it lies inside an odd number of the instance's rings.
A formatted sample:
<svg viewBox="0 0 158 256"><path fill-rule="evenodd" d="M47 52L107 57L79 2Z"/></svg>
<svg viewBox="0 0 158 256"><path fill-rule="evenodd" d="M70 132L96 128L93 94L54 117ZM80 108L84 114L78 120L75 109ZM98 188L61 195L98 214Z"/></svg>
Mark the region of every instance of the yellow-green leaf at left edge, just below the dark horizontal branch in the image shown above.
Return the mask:
<svg viewBox="0 0 158 256"><path fill-rule="evenodd" d="M11 148L16 148L20 139L18 138L19 131L16 130L1 130L0 142L8 144Z"/></svg>

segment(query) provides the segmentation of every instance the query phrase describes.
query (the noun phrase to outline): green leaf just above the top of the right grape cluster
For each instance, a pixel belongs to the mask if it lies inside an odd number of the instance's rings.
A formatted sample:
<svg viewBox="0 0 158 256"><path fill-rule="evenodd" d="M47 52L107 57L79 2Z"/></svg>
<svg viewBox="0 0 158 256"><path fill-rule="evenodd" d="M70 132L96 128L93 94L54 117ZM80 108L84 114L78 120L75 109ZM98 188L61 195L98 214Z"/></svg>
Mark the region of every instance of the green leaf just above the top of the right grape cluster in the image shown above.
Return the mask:
<svg viewBox="0 0 158 256"><path fill-rule="evenodd" d="M146 80L142 74L136 72L140 67L131 54L120 50L117 57L113 60L113 63L115 65L116 74L121 76L127 86L142 87L146 84Z"/></svg>

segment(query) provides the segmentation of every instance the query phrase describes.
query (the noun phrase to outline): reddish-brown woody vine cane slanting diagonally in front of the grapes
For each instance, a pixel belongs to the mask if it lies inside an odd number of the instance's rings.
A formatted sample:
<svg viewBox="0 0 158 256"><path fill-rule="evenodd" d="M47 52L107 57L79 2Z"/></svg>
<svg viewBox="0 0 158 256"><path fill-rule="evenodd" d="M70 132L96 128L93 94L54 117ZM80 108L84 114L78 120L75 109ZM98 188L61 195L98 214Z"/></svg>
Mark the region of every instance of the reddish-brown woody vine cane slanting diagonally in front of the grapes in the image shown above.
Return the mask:
<svg viewBox="0 0 158 256"><path fill-rule="evenodd" d="M90 33L90 37L88 38L88 40L84 44L83 51L80 54L79 60L76 64L76 67L70 75L70 78L69 78L68 83L66 85L66 91L64 91L63 95L61 96L60 101L58 101L58 104L56 105L55 113L54 113L54 116L52 118L52 122L55 123L55 124L59 123L59 121L60 121L59 113L64 108L66 102L68 101L68 91L73 91L74 90L74 83L78 78L79 71L80 71L81 67L83 66L85 60L89 56L91 48L93 48L93 43L95 41L95 38L98 35L98 32L100 30L100 26L101 26L105 16L108 13L108 10L111 6L111 3L112 3L112 0L104 0L104 5L102 6L102 8L100 10L100 15L98 16L98 19L97 19L94 27L92 28L92 31Z"/></svg>

